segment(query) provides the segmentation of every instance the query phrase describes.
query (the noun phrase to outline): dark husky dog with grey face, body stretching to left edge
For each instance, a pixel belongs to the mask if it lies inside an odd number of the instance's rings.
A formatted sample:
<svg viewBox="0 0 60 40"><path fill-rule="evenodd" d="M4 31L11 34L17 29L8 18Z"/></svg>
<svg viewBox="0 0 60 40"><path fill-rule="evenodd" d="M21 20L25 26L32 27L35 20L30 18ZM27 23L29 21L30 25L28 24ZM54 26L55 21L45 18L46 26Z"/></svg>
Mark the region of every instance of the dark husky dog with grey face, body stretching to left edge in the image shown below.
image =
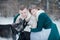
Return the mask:
<svg viewBox="0 0 60 40"><path fill-rule="evenodd" d="M25 28L23 25L26 25L26 23L24 24L24 20L22 20L21 18L19 19L19 21L20 21L19 23L13 23L13 24L5 24L5 25L0 24L0 36L9 37L11 27L14 28L17 32L23 31L23 29Z"/></svg>

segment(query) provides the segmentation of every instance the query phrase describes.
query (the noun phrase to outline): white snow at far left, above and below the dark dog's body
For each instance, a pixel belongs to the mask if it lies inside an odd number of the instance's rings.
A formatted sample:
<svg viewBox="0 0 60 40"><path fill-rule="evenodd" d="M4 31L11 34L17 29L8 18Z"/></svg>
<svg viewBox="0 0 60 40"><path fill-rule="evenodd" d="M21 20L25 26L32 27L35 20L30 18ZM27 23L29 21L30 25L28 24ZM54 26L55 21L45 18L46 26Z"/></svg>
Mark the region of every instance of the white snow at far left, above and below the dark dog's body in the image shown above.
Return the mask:
<svg viewBox="0 0 60 40"><path fill-rule="evenodd" d="M6 25L6 24L12 24L13 23L13 17L0 17L0 24ZM12 40L12 38L2 38L0 37L0 40Z"/></svg>

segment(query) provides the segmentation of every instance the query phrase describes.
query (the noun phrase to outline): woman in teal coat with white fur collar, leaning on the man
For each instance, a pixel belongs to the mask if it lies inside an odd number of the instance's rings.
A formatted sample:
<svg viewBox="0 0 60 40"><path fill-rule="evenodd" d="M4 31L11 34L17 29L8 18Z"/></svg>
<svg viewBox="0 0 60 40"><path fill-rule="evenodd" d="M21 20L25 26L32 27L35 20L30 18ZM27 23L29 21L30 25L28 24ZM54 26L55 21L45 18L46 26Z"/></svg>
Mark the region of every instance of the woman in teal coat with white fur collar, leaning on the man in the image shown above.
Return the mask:
<svg viewBox="0 0 60 40"><path fill-rule="evenodd" d="M54 24L51 21L51 19L47 16L47 14L44 10L42 10L42 9L39 10L38 7L36 5L34 5L31 7L31 13L37 19L37 28L31 29L31 32L33 32L33 37L31 37L32 38L31 40L43 40L44 38L42 38L42 39L40 38L40 36L42 36L41 32L43 31L42 30L43 28L51 29L50 32L46 35L47 38L45 38L44 40L58 40L59 39L59 33L57 30L56 24ZM32 35L32 33L31 33L31 35ZM36 39L36 38L38 38L38 39Z"/></svg>

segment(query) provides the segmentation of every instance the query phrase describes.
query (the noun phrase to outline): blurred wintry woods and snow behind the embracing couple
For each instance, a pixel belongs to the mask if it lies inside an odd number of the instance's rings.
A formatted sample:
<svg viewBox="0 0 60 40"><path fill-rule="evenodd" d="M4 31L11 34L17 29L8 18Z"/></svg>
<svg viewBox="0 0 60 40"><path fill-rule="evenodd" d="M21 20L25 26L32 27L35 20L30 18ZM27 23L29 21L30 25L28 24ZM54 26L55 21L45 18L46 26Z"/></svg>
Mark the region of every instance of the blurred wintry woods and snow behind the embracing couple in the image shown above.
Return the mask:
<svg viewBox="0 0 60 40"><path fill-rule="evenodd" d="M60 33L60 0L0 0L0 24L13 23L13 18L18 13L18 7L21 4L28 7L36 4L45 10L52 21L57 24ZM5 40L4 38L0 39ZM12 40L12 38L10 39Z"/></svg>

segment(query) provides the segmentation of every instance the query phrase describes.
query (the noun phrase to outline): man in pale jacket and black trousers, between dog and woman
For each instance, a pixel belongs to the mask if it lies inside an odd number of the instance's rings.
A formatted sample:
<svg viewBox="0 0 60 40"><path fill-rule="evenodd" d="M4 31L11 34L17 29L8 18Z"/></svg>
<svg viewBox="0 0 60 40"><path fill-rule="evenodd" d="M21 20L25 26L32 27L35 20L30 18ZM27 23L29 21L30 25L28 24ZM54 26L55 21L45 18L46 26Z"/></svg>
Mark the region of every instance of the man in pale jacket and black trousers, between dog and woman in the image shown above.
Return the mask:
<svg viewBox="0 0 60 40"><path fill-rule="evenodd" d="M30 31L31 28L36 28L37 25L37 21L35 19L35 17L33 17L28 8L24 8L23 10L20 10L21 15L23 16L23 18L25 19L25 21L27 22L25 29L20 33L20 39L18 40L30 40Z"/></svg>

